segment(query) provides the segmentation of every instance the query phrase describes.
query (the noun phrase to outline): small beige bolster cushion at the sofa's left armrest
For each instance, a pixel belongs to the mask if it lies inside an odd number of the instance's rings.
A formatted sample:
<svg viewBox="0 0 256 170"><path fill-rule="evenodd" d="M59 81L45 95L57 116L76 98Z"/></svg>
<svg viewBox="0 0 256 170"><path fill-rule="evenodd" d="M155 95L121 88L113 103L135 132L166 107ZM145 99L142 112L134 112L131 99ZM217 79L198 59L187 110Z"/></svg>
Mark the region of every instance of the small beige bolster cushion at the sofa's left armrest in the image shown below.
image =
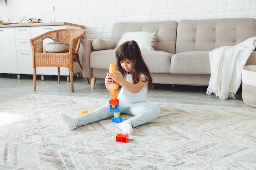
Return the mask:
<svg viewBox="0 0 256 170"><path fill-rule="evenodd" d="M95 51L114 49L116 45L117 45L117 42L115 42L113 40L97 38L92 41L92 48Z"/></svg>

